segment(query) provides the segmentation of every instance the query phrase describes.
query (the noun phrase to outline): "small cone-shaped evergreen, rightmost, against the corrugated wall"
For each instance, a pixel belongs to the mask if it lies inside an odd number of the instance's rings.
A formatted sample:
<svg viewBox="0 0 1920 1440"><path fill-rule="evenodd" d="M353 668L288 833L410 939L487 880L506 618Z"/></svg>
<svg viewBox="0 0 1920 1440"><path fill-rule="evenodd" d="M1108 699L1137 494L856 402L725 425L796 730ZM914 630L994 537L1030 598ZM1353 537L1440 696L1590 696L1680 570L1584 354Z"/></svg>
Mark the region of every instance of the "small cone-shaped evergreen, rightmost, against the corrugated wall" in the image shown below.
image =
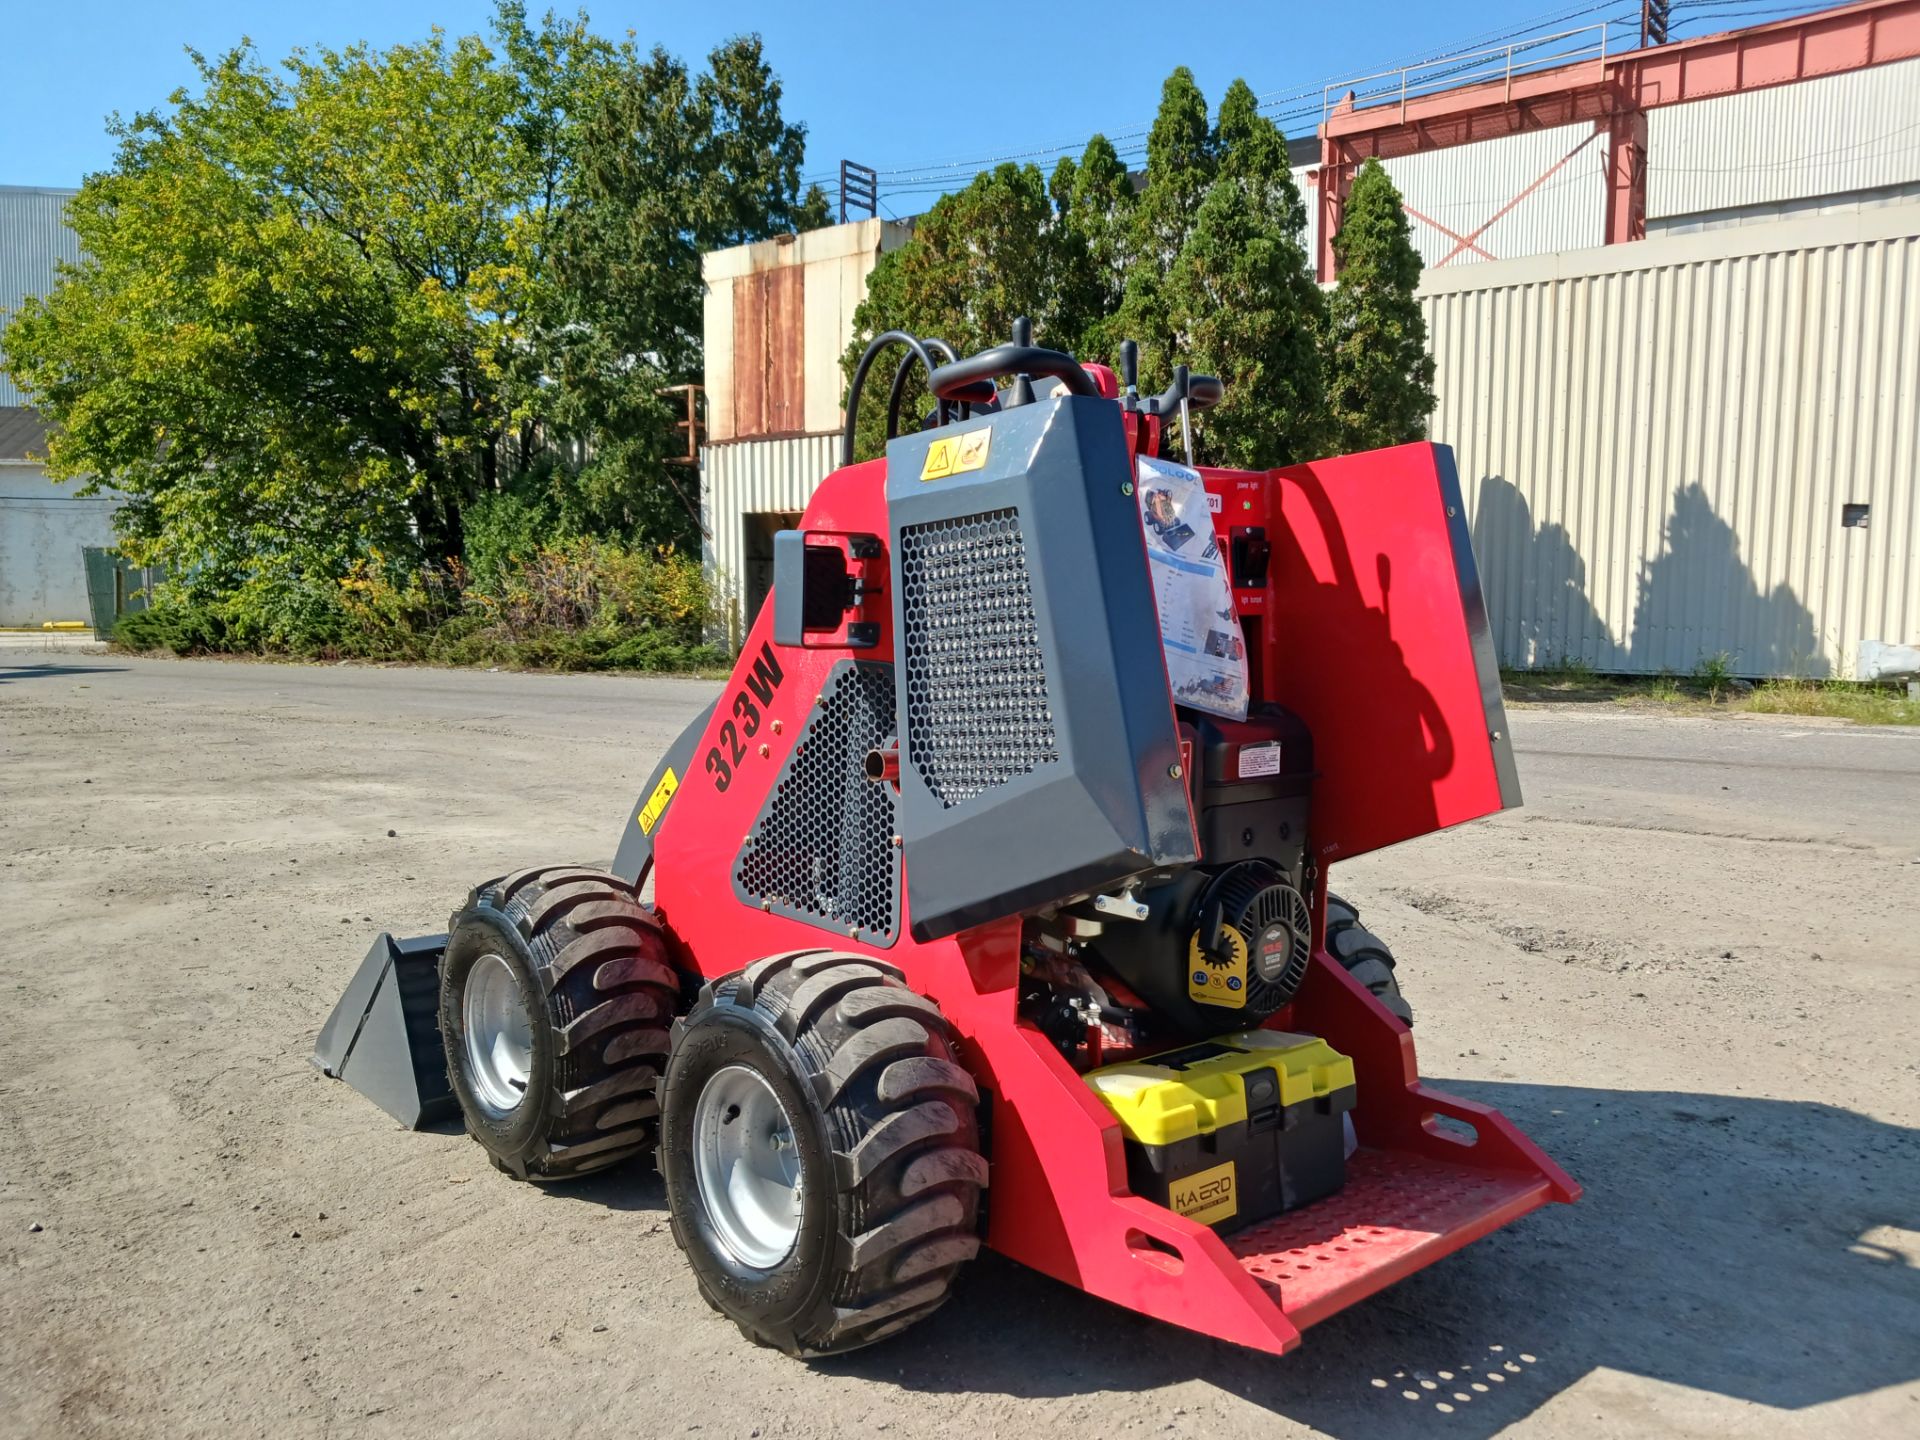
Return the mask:
<svg viewBox="0 0 1920 1440"><path fill-rule="evenodd" d="M1377 161L1354 177L1332 252L1340 284L1329 301L1327 411L1336 445L1421 440L1434 407L1427 321L1413 298L1421 257L1400 192Z"/></svg>

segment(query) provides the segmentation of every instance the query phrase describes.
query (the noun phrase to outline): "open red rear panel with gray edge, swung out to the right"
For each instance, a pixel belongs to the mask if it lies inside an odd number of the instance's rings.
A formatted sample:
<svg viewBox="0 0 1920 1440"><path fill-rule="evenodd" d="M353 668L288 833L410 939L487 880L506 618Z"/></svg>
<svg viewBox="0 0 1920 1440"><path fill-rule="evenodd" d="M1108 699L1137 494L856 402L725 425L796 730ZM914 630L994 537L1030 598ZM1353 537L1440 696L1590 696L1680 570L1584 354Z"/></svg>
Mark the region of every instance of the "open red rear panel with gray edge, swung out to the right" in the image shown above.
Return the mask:
<svg viewBox="0 0 1920 1440"><path fill-rule="evenodd" d="M1261 699L1313 732L1313 851L1350 858L1521 803L1500 668L1444 445L1210 474L1221 540L1263 524L1240 593ZM1223 545L1225 547L1225 545Z"/></svg>

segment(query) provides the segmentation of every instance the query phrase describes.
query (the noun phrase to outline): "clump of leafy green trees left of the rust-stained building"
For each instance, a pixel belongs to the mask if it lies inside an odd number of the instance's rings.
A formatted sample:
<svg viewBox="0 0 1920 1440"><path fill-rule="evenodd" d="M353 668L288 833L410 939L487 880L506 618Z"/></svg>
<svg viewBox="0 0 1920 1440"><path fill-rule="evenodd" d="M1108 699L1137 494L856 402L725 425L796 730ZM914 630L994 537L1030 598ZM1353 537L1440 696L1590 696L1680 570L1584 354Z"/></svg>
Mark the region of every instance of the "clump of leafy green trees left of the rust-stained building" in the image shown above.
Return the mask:
<svg viewBox="0 0 1920 1440"><path fill-rule="evenodd" d="M655 392L697 378L699 253L824 209L756 38L693 75L501 4L492 44L194 63L115 123L86 257L6 332L50 472L131 495L129 555L284 611L459 555L499 497L693 534Z"/></svg>

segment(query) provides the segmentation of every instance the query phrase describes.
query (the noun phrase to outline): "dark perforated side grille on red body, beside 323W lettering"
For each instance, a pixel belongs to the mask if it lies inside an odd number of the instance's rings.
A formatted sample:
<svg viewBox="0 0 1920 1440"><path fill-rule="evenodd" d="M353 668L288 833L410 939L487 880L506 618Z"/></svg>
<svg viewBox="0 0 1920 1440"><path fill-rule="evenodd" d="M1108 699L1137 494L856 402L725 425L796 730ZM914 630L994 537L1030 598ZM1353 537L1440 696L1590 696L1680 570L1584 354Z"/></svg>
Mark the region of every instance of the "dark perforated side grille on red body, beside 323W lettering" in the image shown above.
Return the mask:
<svg viewBox="0 0 1920 1440"><path fill-rule="evenodd" d="M895 791L866 778L868 751L893 735L893 666L837 666L739 852L733 889L743 900L893 945L900 918Z"/></svg>

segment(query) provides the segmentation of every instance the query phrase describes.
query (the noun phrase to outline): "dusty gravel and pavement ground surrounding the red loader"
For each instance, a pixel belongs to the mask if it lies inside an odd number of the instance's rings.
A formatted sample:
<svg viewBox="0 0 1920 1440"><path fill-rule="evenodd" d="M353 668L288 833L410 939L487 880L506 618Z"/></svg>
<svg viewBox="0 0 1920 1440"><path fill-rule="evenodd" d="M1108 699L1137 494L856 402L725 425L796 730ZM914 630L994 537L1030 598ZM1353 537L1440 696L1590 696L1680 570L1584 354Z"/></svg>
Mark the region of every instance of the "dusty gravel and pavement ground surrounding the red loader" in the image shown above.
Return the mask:
<svg viewBox="0 0 1920 1440"><path fill-rule="evenodd" d="M1920 733L1517 710L1524 810L1334 872L1578 1206L1284 1359L983 1258L806 1367L651 1171L513 1185L307 1064L376 931L605 860L710 693L0 662L0 1434L1920 1434Z"/></svg>

